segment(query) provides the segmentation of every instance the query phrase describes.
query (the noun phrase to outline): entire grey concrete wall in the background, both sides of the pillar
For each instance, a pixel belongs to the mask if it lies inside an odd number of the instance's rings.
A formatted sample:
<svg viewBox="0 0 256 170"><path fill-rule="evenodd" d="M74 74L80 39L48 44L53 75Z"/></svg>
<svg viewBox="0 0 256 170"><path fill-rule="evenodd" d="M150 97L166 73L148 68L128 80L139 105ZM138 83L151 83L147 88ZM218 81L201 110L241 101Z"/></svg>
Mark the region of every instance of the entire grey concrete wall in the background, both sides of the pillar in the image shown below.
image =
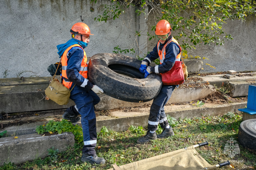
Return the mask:
<svg viewBox="0 0 256 170"><path fill-rule="evenodd" d="M103 4L113 5L107 0L97 4L90 4L90 0L2 0L0 78L50 76L47 67L59 61L56 46L71 38L69 30L74 23L82 22L80 16L95 34L85 48L88 58L96 53L112 53L115 46L135 48L135 54L126 54L132 57L142 57L153 49L156 39L147 42L147 32L154 34L151 26L157 22L153 12L145 19L144 14L135 13L139 7L131 7L114 21L95 22L94 18L104 11ZM234 40L223 46L198 46L188 54L209 59L203 60L203 72L256 70L255 27L255 16L244 22L228 21L223 28ZM141 36L135 36L135 31ZM206 62L216 69L205 65Z"/></svg>

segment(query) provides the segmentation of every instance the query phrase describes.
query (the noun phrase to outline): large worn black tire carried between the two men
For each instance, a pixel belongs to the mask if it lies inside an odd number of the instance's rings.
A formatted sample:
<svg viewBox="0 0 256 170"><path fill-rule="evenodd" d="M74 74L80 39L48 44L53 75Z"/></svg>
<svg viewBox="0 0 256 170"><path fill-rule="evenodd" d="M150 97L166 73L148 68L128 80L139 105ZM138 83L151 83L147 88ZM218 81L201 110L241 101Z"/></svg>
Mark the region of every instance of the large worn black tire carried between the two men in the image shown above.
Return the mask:
<svg viewBox="0 0 256 170"><path fill-rule="evenodd" d="M92 56L88 79L104 94L126 102L147 102L161 90L161 76L150 74L144 79L141 61L122 54L101 53Z"/></svg>

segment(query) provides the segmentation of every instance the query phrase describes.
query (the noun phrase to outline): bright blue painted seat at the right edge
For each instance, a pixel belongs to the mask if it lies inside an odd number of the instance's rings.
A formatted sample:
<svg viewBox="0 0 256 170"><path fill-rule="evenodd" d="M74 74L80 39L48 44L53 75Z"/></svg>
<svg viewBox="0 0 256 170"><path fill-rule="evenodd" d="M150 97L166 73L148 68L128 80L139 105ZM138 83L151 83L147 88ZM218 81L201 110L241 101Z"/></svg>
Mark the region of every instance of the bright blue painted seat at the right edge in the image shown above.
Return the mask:
<svg viewBox="0 0 256 170"><path fill-rule="evenodd" d="M256 86L249 85L247 108L238 110L250 115L256 114Z"/></svg>

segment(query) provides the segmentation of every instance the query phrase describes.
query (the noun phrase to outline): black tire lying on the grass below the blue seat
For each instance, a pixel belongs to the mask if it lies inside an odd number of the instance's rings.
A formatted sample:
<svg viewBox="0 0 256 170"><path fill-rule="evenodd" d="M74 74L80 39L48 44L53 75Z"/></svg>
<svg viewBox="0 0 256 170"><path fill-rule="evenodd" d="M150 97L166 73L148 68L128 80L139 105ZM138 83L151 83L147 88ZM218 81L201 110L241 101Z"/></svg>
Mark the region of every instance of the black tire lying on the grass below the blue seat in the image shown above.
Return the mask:
<svg viewBox="0 0 256 170"><path fill-rule="evenodd" d="M240 124L238 141L249 151L256 153L256 119L245 120Z"/></svg>

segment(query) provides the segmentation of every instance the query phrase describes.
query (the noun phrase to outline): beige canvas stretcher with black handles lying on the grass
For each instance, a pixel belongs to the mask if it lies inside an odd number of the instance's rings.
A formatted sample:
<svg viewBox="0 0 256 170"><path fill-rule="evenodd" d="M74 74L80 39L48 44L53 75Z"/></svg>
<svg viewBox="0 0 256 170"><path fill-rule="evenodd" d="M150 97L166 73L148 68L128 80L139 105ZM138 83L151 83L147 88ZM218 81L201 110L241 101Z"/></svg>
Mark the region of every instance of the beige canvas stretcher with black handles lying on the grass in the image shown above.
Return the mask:
<svg viewBox="0 0 256 170"><path fill-rule="evenodd" d="M204 145L208 145L208 142L185 147L183 149L122 166L113 165L114 168L108 170L212 170L230 165L229 161L213 166L208 164L195 150L196 147Z"/></svg>

